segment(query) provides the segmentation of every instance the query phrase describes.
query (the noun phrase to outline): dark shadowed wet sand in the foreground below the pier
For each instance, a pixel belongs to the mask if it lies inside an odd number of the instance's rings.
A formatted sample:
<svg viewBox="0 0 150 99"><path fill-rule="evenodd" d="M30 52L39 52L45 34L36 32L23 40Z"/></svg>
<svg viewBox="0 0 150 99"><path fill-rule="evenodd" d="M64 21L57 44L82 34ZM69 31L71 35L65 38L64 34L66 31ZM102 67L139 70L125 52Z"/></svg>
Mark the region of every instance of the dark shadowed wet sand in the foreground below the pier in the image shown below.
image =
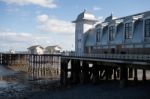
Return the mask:
<svg viewBox="0 0 150 99"><path fill-rule="evenodd" d="M118 82L99 85L74 85L56 90L33 92L28 99L150 99L150 82L129 82L120 88Z"/></svg>

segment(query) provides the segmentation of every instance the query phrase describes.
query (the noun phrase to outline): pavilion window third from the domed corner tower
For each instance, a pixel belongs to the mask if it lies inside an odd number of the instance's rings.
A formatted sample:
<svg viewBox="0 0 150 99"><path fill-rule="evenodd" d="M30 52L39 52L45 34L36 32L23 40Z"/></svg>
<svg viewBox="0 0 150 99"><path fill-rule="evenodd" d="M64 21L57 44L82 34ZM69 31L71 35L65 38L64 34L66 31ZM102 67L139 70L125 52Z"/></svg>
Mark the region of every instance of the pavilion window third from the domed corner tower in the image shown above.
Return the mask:
<svg viewBox="0 0 150 99"><path fill-rule="evenodd" d="M132 22L125 24L125 39L132 38Z"/></svg>

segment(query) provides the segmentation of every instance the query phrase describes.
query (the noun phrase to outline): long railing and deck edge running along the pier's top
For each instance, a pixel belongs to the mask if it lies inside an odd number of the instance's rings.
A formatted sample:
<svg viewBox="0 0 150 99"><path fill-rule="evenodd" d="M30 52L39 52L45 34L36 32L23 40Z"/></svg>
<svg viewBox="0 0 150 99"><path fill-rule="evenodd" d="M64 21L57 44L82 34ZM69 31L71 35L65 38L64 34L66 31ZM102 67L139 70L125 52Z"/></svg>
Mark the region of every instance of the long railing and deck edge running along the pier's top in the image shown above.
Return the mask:
<svg viewBox="0 0 150 99"><path fill-rule="evenodd" d="M4 57L5 55L8 56L8 54L2 54L0 53L0 64L2 62L5 62L8 58ZM10 54L11 55L11 54ZM23 55L23 54L21 54ZM32 55L32 54L24 54L25 56L28 56L29 61L35 61L32 58L36 57L37 62L45 62L49 61L45 57L50 56L57 56L61 58L78 58L78 59L97 59L97 60L119 60L119 61L136 61L136 62L147 62L150 63L150 55L142 55L142 54L77 54L77 53L62 53L62 54L43 54L43 55ZM13 56L13 55L11 55ZM40 60L38 59L40 56L43 56ZM29 58L30 57L30 58Z"/></svg>

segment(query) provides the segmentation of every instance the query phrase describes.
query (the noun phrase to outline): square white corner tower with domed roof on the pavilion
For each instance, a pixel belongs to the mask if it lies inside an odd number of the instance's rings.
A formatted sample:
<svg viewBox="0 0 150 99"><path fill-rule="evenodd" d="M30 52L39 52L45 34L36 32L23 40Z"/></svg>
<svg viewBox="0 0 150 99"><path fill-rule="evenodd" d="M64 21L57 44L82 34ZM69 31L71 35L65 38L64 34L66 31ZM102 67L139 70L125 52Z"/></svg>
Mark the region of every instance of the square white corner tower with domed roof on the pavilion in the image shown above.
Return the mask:
<svg viewBox="0 0 150 99"><path fill-rule="evenodd" d="M84 10L78 15L75 23L75 52L84 53L84 34L97 22L94 15Z"/></svg>

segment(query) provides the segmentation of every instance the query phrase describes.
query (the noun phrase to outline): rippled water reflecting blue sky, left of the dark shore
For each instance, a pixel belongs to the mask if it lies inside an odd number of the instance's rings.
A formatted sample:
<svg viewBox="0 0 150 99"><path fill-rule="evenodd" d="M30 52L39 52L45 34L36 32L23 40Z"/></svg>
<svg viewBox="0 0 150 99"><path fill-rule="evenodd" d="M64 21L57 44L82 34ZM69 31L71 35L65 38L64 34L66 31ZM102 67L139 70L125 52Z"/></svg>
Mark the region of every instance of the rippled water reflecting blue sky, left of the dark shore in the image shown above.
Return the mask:
<svg viewBox="0 0 150 99"><path fill-rule="evenodd" d="M16 66L17 68L17 66ZM15 69L14 69L15 70ZM14 71L8 67L0 65L0 99L20 98L27 96L30 92L40 90L42 85L47 85L59 79L48 78L48 74L44 76L34 76L32 72ZM34 72L35 74L36 72ZM18 99L19 99L18 98Z"/></svg>

